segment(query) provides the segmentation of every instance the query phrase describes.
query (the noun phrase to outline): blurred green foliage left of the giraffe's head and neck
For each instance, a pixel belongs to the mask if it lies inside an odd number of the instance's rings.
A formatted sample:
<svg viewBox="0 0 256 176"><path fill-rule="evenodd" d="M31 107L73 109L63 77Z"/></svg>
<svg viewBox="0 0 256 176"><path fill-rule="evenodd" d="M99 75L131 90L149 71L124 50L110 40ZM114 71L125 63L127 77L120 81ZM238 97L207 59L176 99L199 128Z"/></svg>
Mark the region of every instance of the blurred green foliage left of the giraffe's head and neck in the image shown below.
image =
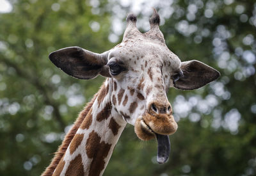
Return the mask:
<svg viewBox="0 0 256 176"><path fill-rule="evenodd" d="M48 54L70 45L108 49L109 13L93 15L84 1L10 2L12 12L0 15L0 175L40 175L104 80L72 79Z"/></svg>

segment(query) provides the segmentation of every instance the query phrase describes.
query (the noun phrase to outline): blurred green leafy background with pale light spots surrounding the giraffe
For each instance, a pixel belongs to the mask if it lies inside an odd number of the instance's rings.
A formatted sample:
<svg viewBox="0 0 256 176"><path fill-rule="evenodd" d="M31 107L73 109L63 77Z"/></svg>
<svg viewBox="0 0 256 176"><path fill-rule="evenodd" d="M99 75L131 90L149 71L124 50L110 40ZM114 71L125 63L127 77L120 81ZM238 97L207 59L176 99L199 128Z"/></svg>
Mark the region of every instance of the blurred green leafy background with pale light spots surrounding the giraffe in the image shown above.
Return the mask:
<svg viewBox="0 0 256 176"><path fill-rule="evenodd" d="M161 15L166 45L180 60L221 72L195 91L170 89L178 131L157 164L156 141L127 125L104 175L256 175L255 0L1 0L0 175L40 175L79 111L104 81L74 79L49 52L77 45L104 52L122 41L127 13L150 28Z"/></svg>

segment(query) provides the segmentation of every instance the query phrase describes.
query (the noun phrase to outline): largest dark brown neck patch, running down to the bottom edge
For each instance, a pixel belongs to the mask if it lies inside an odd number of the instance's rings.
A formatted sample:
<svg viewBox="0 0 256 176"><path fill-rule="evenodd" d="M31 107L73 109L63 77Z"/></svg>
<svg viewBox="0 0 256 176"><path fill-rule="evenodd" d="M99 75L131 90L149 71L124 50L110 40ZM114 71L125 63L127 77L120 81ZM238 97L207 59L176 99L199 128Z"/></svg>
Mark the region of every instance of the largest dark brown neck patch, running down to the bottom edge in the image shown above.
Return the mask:
<svg viewBox="0 0 256 176"><path fill-rule="evenodd" d="M111 145L104 141L100 142L100 136L93 130L89 134L85 148L87 156L92 159L89 175L100 175L105 166L104 158L108 156Z"/></svg>

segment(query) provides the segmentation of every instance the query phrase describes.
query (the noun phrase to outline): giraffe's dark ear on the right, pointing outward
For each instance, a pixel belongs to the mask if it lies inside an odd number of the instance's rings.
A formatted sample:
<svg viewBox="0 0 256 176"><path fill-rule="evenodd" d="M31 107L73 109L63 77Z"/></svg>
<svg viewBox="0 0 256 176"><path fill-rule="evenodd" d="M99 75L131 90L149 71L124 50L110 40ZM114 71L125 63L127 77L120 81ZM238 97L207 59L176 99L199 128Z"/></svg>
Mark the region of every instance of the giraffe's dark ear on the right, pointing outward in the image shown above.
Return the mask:
<svg viewBox="0 0 256 176"><path fill-rule="evenodd" d="M173 86L181 90L194 90L220 77L220 72L196 60L184 61L180 68L184 76L173 81Z"/></svg>

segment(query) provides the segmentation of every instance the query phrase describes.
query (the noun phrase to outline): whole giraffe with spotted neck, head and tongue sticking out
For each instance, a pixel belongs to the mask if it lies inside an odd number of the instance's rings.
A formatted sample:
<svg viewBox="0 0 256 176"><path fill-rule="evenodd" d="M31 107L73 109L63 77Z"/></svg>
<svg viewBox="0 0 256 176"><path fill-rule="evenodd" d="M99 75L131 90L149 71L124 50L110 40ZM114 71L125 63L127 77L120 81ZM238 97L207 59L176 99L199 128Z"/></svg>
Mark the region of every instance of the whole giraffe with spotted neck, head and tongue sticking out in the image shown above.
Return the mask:
<svg viewBox="0 0 256 176"><path fill-rule="evenodd" d="M140 33L136 15L127 16L123 40L97 54L81 47L51 52L49 59L78 79L106 77L99 92L79 114L42 175L102 175L126 124L140 140L156 138L157 162L170 154L168 135L177 131L166 93L171 87L195 90L220 73L196 60L180 61L165 44L156 10L150 30Z"/></svg>

